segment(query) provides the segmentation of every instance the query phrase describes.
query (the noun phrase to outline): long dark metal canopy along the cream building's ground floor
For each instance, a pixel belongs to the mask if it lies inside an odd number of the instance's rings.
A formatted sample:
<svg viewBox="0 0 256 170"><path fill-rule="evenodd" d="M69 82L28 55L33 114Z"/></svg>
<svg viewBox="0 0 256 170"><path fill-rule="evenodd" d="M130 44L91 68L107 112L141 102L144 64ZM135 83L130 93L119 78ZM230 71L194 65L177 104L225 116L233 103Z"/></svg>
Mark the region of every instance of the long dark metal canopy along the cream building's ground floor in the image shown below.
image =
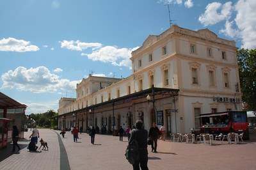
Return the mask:
<svg viewBox="0 0 256 170"><path fill-rule="evenodd" d="M154 93L154 94L153 94ZM169 97L177 97L179 95L179 89L170 89L170 88L152 88L145 89L136 93L132 93L130 95L126 95L124 97L119 97L119 98L113 98L112 100L102 102L100 104L95 104L95 105L90 105L88 107L84 107L83 109L79 109L77 111L72 111L72 112L67 112L65 114L61 114L58 116L55 116L53 118L58 118L60 116L65 116L68 114L73 114L73 113L79 113L79 112L86 112L89 111L90 109L102 109L105 107L112 107L113 105L119 105L119 104L125 104L132 102L134 100L139 100L139 99L145 99L144 102L147 102L147 95L155 95L156 101L162 98L169 98Z"/></svg>

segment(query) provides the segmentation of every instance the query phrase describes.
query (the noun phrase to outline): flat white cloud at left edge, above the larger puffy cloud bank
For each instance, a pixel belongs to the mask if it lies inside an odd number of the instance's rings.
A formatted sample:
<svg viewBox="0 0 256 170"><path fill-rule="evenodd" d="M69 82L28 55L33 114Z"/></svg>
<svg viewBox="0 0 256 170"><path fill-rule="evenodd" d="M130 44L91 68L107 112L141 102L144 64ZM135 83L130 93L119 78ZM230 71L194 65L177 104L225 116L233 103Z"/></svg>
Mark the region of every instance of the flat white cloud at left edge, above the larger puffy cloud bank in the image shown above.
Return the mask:
<svg viewBox="0 0 256 170"><path fill-rule="evenodd" d="M10 37L0 40L0 51L28 52L36 50L39 50L36 45L30 45L30 42L25 40Z"/></svg>

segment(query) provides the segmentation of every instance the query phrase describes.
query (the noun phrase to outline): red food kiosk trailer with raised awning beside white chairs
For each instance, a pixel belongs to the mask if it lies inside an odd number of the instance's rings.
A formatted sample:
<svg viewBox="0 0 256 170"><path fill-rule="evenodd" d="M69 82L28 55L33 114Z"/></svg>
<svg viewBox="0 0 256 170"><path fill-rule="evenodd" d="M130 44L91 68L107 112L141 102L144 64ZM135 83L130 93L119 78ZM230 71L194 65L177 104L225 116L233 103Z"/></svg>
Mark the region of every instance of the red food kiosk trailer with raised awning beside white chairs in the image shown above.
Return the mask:
<svg viewBox="0 0 256 170"><path fill-rule="evenodd" d="M243 134L243 139L249 139L246 111L228 111L200 114L201 133L228 134L235 132Z"/></svg>

